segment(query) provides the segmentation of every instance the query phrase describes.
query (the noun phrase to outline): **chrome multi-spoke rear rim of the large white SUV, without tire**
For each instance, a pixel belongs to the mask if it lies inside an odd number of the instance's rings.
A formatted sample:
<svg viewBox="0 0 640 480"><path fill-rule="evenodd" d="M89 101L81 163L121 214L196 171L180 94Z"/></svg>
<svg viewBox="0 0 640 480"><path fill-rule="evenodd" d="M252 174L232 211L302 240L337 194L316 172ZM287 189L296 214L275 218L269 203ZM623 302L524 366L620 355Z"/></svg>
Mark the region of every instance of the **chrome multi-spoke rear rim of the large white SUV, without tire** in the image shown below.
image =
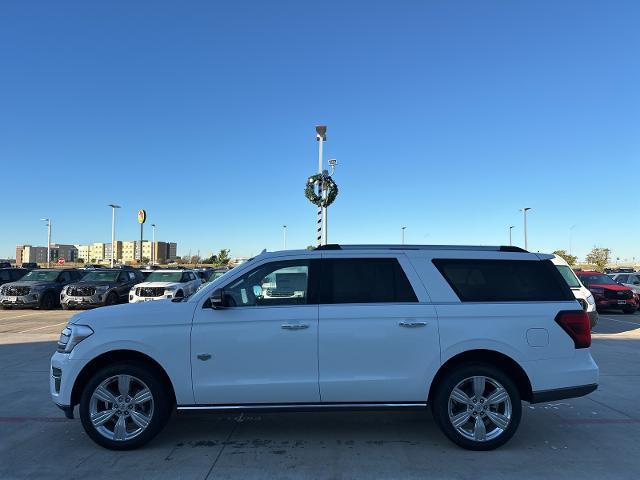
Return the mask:
<svg viewBox="0 0 640 480"><path fill-rule="evenodd" d="M468 377L449 395L449 421L465 438L486 442L499 437L511 422L511 398L490 377Z"/></svg>

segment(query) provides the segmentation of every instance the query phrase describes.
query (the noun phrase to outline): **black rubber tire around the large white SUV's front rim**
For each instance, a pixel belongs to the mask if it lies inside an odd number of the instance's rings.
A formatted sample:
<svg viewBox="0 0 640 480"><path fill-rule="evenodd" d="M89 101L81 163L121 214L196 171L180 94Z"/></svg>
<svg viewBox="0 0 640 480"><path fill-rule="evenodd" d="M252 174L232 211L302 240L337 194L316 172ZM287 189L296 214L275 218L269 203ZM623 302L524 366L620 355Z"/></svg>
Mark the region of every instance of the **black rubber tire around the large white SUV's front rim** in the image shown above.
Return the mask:
<svg viewBox="0 0 640 480"><path fill-rule="evenodd" d="M102 382L117 375L130 375L144 382L151 391L153 400L153 413L150 416L151 419L148 426L137 436L129 440L107 438L101 434L91 422L90 408L93 392ZM169 392L169 387L165 385L165 382L153 368L131 362L121 362L101 368L89 379L80 396L79 413L85 432L87 432L87 435L98 445L110 450L133 450L142 447L160 433L171 416L172 408L173 400ZM133 419L131 417L129 418L130 425L133 427ZM115 421L115 417L113 417L113 420ZM105 425L107 424L105 423Z"/></svg>

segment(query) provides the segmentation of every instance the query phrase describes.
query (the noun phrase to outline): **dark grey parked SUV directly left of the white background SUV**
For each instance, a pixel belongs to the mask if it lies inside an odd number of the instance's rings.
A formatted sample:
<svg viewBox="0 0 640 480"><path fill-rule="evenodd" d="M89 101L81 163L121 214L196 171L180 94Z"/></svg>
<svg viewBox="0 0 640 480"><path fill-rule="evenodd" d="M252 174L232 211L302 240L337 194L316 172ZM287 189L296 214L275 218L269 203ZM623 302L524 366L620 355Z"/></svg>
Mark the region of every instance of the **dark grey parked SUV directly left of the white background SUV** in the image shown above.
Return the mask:
<svg viewBox="0 0 640 480"><path fill-rule="evenodd" d="M131 287L143 280L142 273L133 268L96 269L65 286L60 304L68 310L126 303Z"/></svg>

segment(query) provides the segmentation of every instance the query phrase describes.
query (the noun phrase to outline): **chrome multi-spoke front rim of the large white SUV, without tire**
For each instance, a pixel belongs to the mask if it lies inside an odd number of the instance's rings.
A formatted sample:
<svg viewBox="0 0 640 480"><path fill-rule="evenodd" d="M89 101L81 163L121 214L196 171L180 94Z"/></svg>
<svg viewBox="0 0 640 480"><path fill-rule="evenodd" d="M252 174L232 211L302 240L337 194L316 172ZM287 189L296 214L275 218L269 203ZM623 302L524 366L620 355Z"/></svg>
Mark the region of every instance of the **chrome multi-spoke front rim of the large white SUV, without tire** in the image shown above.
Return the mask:
<svg viewBox="0 0 640 480"><path fill-rule="evenodd" d="M125 441L146 430L153 417L153 395L149 387L132 375L104 380L91 394L89 415L100 435Z"/></svg>

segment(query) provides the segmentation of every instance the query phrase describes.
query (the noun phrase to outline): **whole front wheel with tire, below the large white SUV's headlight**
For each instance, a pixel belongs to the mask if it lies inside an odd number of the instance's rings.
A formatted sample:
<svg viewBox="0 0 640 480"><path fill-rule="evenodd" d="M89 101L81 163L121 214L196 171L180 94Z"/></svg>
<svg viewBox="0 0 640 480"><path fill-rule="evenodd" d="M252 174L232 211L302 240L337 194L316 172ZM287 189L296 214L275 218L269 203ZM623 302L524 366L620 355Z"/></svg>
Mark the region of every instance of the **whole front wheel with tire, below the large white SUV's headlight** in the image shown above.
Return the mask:
<svg viewBox="0 0 640 480"><path fill-rule="evenodd" d="M149 442L166 424L170 395L152 370L118 363L99 370L80 398L80 420L91 439L111 450Z"/></svg>

